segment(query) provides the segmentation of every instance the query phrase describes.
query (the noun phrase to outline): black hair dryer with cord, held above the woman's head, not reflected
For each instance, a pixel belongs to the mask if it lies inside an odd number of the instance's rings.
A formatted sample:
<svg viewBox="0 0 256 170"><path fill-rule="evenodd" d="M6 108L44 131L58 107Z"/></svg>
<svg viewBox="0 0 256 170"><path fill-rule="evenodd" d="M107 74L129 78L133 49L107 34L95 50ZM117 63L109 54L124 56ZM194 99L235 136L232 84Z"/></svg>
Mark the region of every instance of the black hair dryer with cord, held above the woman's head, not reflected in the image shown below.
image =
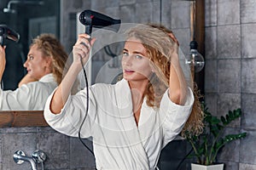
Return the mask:
<svg viewBox="0 0 256 170"><path fill-rule="evenodd" d="M80 22L85 26L85 33L89 34L92 31L92 27L102 28L105 26L106 29L112 31L119 31L121 20L115 20L105 14L100 14L92 10L84 10L79 15Z"/></svg>

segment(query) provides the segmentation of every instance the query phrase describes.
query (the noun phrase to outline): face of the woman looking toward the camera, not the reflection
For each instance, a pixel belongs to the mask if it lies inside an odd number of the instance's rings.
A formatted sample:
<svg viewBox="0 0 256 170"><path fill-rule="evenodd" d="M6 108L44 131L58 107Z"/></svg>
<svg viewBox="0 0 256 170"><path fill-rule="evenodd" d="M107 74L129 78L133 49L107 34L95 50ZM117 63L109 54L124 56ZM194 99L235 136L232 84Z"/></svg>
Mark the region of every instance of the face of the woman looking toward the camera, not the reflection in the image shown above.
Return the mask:
<svg viewBox="0 0 256 170"><path fill-rule="evenodd" d="M152 69L149 65L146 48L136 38L129 38L123 50L123 76L127 81L144 81L149 79Z"/></svg>

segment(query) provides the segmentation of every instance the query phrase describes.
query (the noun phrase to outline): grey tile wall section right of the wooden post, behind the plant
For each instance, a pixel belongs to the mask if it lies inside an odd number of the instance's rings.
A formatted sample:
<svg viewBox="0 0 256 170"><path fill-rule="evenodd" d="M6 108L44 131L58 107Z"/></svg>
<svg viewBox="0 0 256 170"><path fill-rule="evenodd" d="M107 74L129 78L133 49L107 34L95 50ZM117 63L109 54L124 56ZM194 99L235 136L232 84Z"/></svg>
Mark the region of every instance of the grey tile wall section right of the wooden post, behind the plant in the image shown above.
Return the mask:
<svg viewBox="0 0 256 170"><path fill-rule="evenodd" d="M224 147L218 161L226 169L256 169L256 1L206 1L205 98L218 116L241 107L239 121L230 132L247 138Z"/></svg>

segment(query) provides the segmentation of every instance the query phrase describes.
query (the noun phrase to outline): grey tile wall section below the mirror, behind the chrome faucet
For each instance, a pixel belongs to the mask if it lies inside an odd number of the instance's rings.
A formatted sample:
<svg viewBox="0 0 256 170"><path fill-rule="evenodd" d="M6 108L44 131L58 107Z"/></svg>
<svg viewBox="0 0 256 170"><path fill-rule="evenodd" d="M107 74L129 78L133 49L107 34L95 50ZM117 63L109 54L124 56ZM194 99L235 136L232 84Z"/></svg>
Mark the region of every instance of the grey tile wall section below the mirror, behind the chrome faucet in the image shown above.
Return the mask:
<svg viewBox="0 0 256 170"><path fill-rule="evenodd" d="M13 155L16 150L23 150L26 156L32 156L34 150L44 150L47 158L44 169L47 170L92 170L95 169L94 157L80 143L78 138L71 138L57 133L51 127L3 127L0 129L0 169L28 170L29 162L16 164ZM90 140L85 141L91 147ZM38 164L38 169L41 166Z"/></svg>

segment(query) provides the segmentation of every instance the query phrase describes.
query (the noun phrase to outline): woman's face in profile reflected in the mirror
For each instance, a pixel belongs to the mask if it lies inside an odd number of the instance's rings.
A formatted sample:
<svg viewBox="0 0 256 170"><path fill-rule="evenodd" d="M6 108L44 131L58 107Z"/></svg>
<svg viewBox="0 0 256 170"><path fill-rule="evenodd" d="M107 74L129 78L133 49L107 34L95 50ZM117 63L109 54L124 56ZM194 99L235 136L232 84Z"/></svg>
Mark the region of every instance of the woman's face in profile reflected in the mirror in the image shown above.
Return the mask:
<svg viewBox="0 0 256 170"><path fill-rule="evenodd" d="M32 45L27 54L24 67L26 67L27 74L30 77L39 80L41 77L44 77L51 72L51 69L49 68L50 62L50 57L44 56L37 45Z"/></svg>

